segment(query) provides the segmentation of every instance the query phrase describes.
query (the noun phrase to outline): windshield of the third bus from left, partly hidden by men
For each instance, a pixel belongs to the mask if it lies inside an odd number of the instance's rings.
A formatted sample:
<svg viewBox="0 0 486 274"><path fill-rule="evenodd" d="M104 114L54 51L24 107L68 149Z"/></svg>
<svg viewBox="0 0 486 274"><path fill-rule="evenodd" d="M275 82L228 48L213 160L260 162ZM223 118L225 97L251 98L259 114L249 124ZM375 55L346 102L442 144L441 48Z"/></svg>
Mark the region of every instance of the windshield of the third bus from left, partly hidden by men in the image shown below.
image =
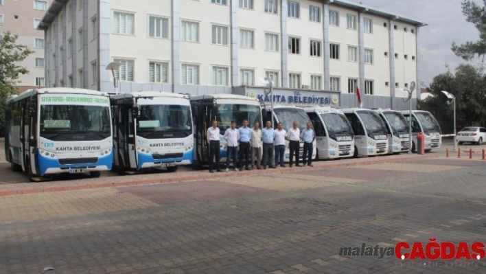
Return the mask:
<svg viewBox="0 0 486 274"><path fill-rule="evenodd" d="M224 133L227 128L231 127L231 121L236 122L237 128L243 126L243 120L248 120L248 126L252 127L253 122L260 123L262 128L262 111L260 106L252 104L218 104L218 127L220 132Z"/></svg>

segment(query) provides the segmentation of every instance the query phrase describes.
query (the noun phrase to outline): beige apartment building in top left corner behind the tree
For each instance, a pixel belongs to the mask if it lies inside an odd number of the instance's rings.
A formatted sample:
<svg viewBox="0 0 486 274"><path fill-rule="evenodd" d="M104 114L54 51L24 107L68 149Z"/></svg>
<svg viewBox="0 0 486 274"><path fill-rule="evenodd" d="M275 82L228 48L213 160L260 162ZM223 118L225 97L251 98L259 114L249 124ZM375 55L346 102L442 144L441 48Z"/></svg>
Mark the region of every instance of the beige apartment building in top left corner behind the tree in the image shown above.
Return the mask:
<svg viewBox="0 0 486 274"><path fill-rule="evenodd" d="M19 76L21 90L45 86L44 32L37 27L48 6L49 0L0 0L0 38L10 32L18 36L17 43L34 51L19 64L29 71Z"/></svg>

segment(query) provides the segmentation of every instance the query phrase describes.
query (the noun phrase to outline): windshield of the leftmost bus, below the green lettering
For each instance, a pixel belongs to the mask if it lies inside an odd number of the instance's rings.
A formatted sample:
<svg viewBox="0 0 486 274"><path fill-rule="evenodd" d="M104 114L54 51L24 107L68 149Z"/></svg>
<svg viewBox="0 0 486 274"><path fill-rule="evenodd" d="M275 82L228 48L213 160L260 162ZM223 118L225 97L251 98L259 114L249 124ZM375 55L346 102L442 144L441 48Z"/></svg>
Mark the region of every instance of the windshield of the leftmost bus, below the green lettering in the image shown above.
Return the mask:
<svg viewBox="0 0 486 274"><path fill-rule="evenodd" d="M40 136L95 133L108 138L111 135L109 111L108 106L40 105Z"/></svg>

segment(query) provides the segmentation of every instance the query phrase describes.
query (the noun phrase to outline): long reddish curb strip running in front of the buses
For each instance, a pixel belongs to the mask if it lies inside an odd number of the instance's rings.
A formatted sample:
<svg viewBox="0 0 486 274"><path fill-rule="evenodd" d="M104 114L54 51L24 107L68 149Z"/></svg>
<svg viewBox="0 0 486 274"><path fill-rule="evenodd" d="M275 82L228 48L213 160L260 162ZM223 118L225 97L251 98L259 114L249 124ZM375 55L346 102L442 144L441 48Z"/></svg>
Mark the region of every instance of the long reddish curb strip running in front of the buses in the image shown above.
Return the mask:
<svg viewBox="0 0 486 274"><path fill-rule="evenodd" d="M383 158L382 158L383 157ZM32 187L27 189L16 189L16 190L0 190L0 196L12 196L12 195L21 195L21 194L35 194L35 193L44 193L44 192L62 192L62 191L73 191L73 190L90 190L96 188L106 188L106 187L129 187L135 185L158 185L161 183L175 183L175 182L182 182L182 181L198 181L198 180L209 180L209 179L220 179L225 177L240 177L240 176L254 176L254 175L268 175L268 174L286 174L292 173L296 171L304 171L304 170L328 170L330 168L345 168L350 166L356 165L373 165L375 163L388 163L388 162L395 162L395 161L402 161L407 159L430 159L430 158L441 158L439 155L415 155L415 156L408 156L400 157L397 156L395 158L385 158L386 155L378 156L376 159L365 159L364 161L349 161L349 162L340 162L346 161L349 159L343 160L334 160L334 161L324 161L324 162L317 162L323 163L323 165L314 165L313 167L302 167L302 168L285 168L285 169L267 169L267 170L245 170L240 172L222 172L222 173L212 173L212 174L197 174L196 176L187 176L186 174L181 173L181 176L177 176L175 178L167 178L167 179L144 179L144 180L134 180L128 182L113 182L113 183L89 183L86 185L66 185L66 186L49 186L49 187ZM380 159L382 158L382 159ZM356 159L354 159L356 160ZM367 161L366 161L367 160ZM130 176L130 175L127 175Z"/></svg>

